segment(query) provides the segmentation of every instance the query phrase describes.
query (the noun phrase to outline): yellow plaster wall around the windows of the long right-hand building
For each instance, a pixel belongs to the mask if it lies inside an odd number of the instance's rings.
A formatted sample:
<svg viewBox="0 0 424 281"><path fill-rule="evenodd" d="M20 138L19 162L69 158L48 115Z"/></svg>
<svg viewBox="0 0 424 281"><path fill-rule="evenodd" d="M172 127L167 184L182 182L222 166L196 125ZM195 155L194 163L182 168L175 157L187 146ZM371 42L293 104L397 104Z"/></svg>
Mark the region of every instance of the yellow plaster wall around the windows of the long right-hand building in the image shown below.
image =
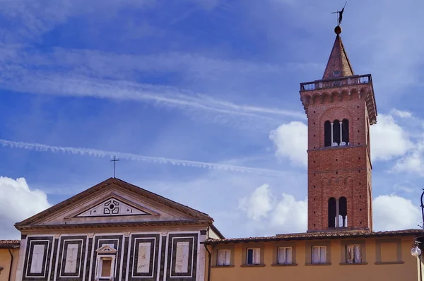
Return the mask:
<svg viewBox="0 0 424 281"><path fill-rule="evenodd" d="M304 281L304 280L343 280L343 281L374 281L374 280L417 280L417 261L411 256L412 237L397 238L401 244L400 264L375 264L377 262L377 244L375 238L365 240L366 265L341 265L342 245L341 239L332 239L330 256L331 265L305 265L305 241L296 241L296 266L272 266L274 244L267 242L264 246L263 267L241 267L242 245L235 244L234 266L228 268L211 268L211 281ZM353 239L349 239L353 241ZM388 246L394 244L387 243ZM209 246L211 248L211 246ZM388 249L389 252L396 249ZM215 258L214 256L212 258ZM384 259L383 259L384 260ZM213 263L213 262L212 262ZM207 275L206 275L207 276ZM207 279L206 279L207 280Z"/></svg>

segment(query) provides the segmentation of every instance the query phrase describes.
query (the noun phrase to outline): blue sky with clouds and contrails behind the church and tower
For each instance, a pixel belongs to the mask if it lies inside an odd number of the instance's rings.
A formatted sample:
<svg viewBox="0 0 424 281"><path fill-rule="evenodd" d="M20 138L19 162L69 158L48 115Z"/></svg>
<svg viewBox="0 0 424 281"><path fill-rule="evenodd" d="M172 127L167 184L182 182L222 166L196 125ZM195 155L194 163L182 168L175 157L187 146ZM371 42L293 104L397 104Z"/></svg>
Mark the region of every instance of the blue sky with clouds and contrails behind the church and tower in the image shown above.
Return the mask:
<svg viewBox="0 0 424 281"><path fill-rule="evenodd" d="M0 239L113 176L208 213L225 237L307 229L307 118L345 1L0 0ZM416 228L424 177L420 0L349 1L372 74L375 230Z"/></svg>

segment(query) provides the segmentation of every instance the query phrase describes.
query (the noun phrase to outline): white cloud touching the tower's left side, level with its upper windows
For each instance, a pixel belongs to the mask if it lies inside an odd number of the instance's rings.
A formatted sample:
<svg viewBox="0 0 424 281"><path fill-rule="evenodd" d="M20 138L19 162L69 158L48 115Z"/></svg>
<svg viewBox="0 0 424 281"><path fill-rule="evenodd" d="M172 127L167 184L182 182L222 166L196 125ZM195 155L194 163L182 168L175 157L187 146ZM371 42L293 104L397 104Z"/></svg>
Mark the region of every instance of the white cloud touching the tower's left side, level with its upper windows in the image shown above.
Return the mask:
<svg viewBox="0 0 424 281"><path fill-rule="evenodd" d="M292 121L271 131L269 138L276 146L276 156L288 158L293 165L307 167L307 126Z"/></svg>

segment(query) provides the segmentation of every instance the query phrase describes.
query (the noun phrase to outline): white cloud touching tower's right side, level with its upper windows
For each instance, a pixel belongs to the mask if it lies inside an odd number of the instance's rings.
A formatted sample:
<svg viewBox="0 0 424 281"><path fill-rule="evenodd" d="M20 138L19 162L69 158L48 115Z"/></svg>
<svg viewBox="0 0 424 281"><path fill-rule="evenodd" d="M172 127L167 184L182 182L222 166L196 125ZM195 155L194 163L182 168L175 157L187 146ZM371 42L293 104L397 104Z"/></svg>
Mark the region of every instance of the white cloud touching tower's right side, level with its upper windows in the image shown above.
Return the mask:
<svg viewBox="0 0 424 281"><path fill-rule="evenodd" d="M391 115L379 115L377 124L371 126L370 139L372 160L391 160L411 148L408 133L396 124Z"/></svg>

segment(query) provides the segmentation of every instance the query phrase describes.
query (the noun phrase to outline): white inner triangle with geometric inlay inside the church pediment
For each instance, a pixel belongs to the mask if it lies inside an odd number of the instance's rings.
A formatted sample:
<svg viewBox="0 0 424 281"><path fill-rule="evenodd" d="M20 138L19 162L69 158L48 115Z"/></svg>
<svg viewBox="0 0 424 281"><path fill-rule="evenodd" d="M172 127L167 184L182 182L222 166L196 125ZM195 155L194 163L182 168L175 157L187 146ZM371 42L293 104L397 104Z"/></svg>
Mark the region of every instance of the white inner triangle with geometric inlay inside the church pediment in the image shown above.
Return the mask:
<svg viewBox="0 0 424 281"><path fill-rule="evenodd" d="M102 199L100 203L94 207L83 210L83 212L73 217L108 217L117 215L158 215L158 213L143 208L140 205L137 206L120 196L114 195Z"/></svg>

